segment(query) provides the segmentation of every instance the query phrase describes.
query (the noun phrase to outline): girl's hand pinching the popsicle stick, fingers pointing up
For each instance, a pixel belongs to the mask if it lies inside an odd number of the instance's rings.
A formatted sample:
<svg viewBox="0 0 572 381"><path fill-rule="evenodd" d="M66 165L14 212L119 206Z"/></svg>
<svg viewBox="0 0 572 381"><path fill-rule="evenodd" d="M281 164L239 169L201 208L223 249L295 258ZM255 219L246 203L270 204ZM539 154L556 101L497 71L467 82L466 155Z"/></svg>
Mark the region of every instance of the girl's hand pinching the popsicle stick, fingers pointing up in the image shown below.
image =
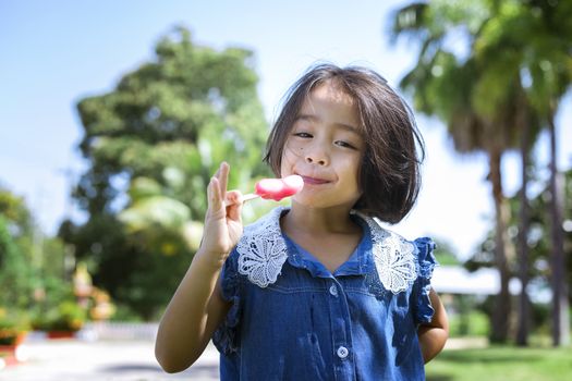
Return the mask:
<svg viewBox="0 0 572 381"><path fill-rule="evenodd" d="M208 184L208 209L200 244L203 255L210 256L218 266L222 265L236 246L243 231L242 194L239 190L227 192L229 170L229 164L222 162Z"/></svg>

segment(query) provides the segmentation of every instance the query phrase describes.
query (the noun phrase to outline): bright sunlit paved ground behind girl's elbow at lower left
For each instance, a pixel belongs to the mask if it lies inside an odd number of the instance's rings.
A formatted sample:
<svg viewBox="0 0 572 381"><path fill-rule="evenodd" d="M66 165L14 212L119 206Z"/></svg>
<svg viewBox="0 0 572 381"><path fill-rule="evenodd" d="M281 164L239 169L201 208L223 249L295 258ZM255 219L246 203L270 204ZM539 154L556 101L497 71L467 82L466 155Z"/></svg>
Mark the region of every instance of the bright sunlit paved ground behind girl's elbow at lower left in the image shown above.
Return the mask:
<svg viewBox="0 0 572 381"><path fill-rule="evenodd" d="M212 381L218 352L209 345L190 369L168 374L149 341L45 340L23 344L27 360L0 369L0 381Z"/></svg>

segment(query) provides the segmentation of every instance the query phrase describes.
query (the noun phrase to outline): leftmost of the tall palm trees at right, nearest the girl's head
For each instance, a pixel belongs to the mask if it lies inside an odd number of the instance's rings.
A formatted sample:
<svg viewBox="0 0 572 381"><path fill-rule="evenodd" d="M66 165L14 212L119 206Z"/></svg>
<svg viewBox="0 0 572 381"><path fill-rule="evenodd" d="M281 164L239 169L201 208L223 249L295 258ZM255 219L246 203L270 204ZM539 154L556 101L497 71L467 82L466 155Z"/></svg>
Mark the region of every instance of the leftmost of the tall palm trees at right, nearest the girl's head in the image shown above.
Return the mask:
<svg viewBox="0 0 572 381"><path fill-rule="evenodd" d="M500 164L502 155L519 146L520 130L528 130L531 108L521 86L519 51L491 49L491 37L486 38L488 29L498 27L495 12L498 9L485 2L472 2L470 8L455 2L414 3L397 12L393 36L421 39L417 65L400 84L413 91L415 107L446 121L458 151L487 153L496 216L495 258L501 280L490 339L504 342L511 315L510 262L515 254L507 231L510 211ZM467 39L466 58L447 51L453 37ZM525 158L530 145L523 144Z"/></svg>

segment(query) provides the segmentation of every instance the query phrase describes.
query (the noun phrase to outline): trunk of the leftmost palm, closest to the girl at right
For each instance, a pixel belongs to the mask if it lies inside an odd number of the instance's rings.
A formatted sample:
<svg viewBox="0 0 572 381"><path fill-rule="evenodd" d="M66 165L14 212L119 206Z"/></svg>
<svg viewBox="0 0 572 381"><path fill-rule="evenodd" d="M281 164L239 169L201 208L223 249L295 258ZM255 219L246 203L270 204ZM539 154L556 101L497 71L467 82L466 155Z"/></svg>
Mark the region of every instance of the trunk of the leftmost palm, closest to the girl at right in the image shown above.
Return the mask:
<svg viewBox="0 0 572 381"><path fill-rule="evenodd" d="M495 231L495 263L500 275L500 291L495 299L492 311L492 327L490 341L494 343L506 343L509 334L509 321L511 315L511 300L509 293L510 270L507 259L510 251L507 225L510 210L507 207L502 194L501 181L501 151L494 149L489 151L490 182L492 185L492 197L495 200L496 231Z"/></svg>

